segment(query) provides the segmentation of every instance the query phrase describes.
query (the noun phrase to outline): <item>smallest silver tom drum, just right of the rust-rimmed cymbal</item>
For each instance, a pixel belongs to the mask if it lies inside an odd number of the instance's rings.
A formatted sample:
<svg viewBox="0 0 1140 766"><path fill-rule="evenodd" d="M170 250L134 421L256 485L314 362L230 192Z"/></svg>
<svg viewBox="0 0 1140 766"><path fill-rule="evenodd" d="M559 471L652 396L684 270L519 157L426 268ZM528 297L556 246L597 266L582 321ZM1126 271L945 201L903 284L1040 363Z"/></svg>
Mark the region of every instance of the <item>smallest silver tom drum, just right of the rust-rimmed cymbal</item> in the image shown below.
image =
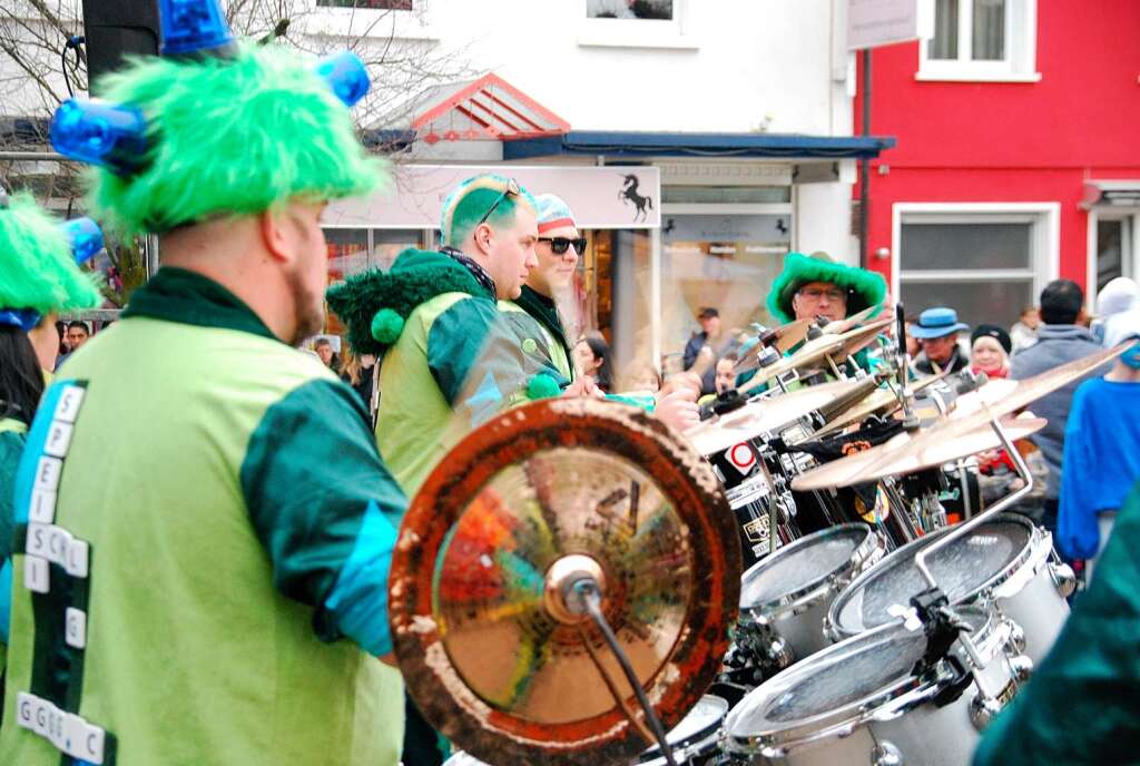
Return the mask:
<svg viewBox="0 0 1140 766"><path fill-rule="evenodd" d="M769 626L801 660L828 645L823 621L831 602L883 551L882 538L866 524L801 537L744 572L741 620Z"/></svg>

